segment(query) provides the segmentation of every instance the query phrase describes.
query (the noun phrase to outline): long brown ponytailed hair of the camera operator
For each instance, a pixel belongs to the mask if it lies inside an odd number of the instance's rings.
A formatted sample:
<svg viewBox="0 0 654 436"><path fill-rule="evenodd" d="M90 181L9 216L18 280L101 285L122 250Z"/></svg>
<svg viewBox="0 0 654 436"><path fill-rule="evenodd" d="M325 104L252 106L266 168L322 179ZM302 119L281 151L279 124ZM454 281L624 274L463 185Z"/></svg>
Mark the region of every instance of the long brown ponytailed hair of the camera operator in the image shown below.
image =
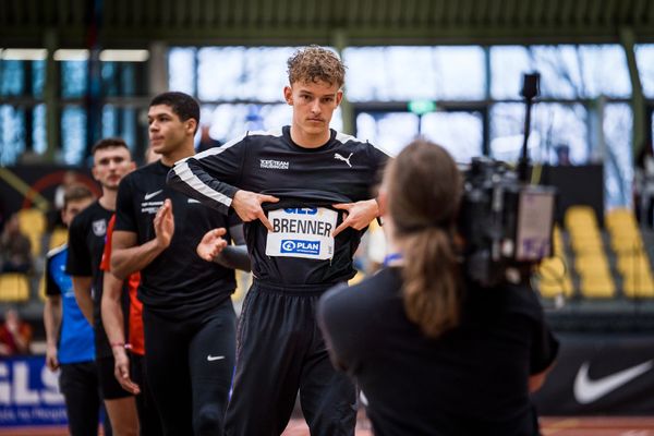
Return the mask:
<svg viewBox="0 0 654 436"><path fill-rule="evenodd" d="M432 338L459 323L460 270L453 245L461 174L440 146L414 141L389 164L386 191L404 257L404 310Z"/></svg>

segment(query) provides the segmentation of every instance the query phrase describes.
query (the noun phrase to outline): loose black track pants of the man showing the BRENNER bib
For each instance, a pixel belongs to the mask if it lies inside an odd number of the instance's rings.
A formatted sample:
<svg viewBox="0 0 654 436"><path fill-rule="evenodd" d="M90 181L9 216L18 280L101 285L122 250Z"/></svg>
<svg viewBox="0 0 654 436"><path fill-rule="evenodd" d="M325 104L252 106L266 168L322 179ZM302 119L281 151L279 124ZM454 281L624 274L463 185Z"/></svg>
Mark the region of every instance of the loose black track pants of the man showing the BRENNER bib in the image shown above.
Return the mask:
<svg viewBox="0 0 654 436"><path fill-rule="evenodd" d="M329 362L316 322L322 289L255 281L238 328L237 374L226 435L278 436L298 390L312 436L353 436L356 395Z"/></svg>

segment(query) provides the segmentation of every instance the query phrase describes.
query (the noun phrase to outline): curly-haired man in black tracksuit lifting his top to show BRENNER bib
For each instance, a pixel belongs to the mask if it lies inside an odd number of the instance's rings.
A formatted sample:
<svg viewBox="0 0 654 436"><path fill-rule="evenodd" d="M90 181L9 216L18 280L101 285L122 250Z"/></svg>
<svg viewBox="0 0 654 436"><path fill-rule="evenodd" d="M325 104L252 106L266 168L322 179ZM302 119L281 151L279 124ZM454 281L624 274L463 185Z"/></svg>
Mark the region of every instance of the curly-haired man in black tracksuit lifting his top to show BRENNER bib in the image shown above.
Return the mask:
<svg viewBox="0 0 654 436"><path fill-rule="evenodd" d="M279 435L298 390L311 434L354 435L355 389L329 362L318 298L355 270L352 255L378 215L371 189L388 155L329 129L344 65L311 46L288 61L290 126L180 160L173 187L245 222L253 286L237 332L228 435Z"/></svg>

